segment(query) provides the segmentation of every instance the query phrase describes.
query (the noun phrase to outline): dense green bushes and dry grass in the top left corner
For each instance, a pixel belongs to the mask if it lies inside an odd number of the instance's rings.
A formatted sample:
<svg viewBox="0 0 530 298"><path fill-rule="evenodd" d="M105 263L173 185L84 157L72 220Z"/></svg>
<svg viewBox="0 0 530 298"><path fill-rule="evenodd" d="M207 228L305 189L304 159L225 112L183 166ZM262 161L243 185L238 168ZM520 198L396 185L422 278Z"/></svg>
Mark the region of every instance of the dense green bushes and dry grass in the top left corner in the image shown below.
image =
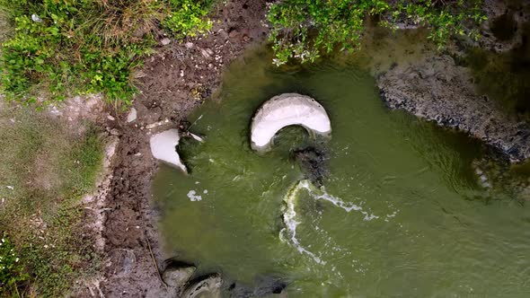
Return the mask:
<svg viewBox="0 0 530 298"><path fill-rule="evenodd" d="M11 100L42 91L103 92L127 104L132 70L152 52L163 29L176 38L207 31L210 0L0 0L14 33L2 48L2 87Z"/></svg>

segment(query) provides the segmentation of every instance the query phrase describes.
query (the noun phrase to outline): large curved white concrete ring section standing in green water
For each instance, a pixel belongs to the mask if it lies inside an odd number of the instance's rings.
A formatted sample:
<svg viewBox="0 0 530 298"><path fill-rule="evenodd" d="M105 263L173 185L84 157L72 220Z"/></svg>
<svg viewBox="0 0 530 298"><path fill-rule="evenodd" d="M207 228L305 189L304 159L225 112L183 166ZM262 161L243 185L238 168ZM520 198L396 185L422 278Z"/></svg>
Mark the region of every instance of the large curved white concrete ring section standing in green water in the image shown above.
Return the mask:
<svg viewBox="0 0 530 298"><path fill-rule="evenodd" d="M309 96L284 93L266 101L252 118L252 149L267 151L278 131L293 125L305 127L312 136L331 134L330 118L320 103Z"/></svg>

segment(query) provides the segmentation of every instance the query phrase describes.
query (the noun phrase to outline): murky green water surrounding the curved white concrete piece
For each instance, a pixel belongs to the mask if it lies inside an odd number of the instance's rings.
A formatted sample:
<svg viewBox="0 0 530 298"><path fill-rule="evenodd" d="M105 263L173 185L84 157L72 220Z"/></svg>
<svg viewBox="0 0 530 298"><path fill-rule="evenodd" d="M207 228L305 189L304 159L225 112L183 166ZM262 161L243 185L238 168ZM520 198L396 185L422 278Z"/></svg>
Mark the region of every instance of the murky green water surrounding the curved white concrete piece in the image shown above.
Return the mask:
<svg viewBox="0 0 530 298"><path fill-rule="evenodd" d="M270 153L250 149L253 112L282 92L330 114L322 191L296 184L291 151L313 142L303 129L282 130ZM231 66L221 98L190 118L206 137L181 146L191 174L162 167L154 184L166 247L199 274L279 277L289 297L530 296L530 208L481 188L481 145L386 110L355 65L285 72L257 53Z"/></svg>

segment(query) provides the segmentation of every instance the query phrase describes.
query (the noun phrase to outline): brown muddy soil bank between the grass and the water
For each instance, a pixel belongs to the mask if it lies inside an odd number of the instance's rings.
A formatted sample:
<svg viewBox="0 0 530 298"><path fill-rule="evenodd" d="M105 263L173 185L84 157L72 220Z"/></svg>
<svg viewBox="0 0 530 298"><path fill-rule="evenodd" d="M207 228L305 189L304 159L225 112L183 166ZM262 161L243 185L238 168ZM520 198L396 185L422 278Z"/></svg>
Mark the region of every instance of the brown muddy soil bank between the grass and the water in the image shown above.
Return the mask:
<svg viewBox="0 0 530 298"><path fill-rule="evenodd" d="M133 104L137 119L128 123L126 114L107 119L119 145L102 231L106 259L100 287L105 297L175 295L159 276L164 259L175 256L164 255L156 230L150 185L157 162L150 153L149 136L176 127L203 101L215 98L225 66L267 36L262 25L265 9L262 0L234 0L217 7L210 34L172 40L146 59L135 75L140 89Z"/></svg>

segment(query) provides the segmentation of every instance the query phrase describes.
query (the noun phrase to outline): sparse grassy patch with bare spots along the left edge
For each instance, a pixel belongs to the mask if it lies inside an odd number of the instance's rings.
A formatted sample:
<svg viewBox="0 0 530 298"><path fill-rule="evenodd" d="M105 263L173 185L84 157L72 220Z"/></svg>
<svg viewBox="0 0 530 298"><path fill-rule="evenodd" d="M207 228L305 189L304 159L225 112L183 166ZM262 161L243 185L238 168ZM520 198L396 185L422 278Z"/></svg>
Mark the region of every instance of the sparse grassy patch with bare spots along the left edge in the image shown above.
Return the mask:
<svg viewBox="0 0 530 298"><path fill-rule="evenodd" d="M30 108L5 110L0 127L0 233L18 258L0 272L0 296L65 296L99 268L80 205L101 171L99 132Z"/></svg>

